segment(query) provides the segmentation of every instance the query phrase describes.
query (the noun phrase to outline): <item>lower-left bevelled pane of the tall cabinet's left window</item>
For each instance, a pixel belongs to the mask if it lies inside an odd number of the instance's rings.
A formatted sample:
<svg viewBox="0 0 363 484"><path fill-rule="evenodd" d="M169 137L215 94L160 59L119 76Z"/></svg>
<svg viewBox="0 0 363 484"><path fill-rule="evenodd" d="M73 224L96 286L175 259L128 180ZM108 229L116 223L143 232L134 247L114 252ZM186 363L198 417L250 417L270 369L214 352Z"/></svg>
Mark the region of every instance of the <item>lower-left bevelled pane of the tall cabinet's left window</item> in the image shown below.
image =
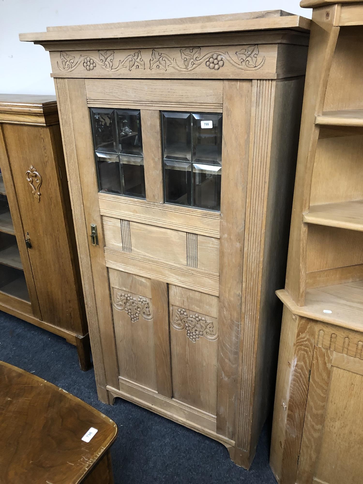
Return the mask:
<svg viewBox="0 0 363 484"><path fill-rule="evenodd" d="M119 155L98 152L96 165L98 173L98 189L100 192L121 195L121 171Z"/></svg>

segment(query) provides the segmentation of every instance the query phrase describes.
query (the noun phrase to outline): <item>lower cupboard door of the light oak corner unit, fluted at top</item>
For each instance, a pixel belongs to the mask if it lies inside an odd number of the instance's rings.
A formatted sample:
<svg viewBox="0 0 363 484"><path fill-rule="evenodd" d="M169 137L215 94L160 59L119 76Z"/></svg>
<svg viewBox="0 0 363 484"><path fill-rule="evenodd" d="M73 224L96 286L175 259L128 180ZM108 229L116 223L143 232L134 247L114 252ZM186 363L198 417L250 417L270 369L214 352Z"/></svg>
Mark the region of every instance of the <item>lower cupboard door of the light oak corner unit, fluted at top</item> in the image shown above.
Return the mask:
<svg viewBox="0 0 363 484"><path fill-rule="evenodd" d="M363 472L362 334L341 328L332 331L326 325L319 331L318 344L296 483L358 484Z"/></svg>

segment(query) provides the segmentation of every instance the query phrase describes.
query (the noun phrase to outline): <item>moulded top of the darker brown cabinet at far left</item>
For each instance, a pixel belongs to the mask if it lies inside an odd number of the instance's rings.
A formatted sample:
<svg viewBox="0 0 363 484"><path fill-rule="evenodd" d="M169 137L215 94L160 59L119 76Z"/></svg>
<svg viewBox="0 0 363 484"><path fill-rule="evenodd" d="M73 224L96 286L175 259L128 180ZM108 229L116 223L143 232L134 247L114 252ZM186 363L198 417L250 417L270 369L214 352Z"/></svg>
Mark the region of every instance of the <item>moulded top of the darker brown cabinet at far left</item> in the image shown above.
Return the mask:
<svg viewBox="0 0 363 484"><path fill-rule="evenodd" d="M57 111L56 96L41 94L0 94L0 111Z"/></svg>

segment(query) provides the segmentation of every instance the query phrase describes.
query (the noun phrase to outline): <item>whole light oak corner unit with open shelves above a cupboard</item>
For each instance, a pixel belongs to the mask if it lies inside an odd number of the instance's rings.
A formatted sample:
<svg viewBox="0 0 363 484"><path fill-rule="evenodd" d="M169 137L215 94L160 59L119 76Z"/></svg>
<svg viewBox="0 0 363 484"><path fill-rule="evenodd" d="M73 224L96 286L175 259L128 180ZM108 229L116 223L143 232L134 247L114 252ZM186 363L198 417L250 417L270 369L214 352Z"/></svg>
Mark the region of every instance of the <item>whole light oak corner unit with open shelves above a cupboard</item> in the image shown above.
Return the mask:
<svg viewBox="0 0 363 484"><path fill-rule="evenodd" d="M313 7L270 463L280 484L362 481L363 2Z"/></svg>

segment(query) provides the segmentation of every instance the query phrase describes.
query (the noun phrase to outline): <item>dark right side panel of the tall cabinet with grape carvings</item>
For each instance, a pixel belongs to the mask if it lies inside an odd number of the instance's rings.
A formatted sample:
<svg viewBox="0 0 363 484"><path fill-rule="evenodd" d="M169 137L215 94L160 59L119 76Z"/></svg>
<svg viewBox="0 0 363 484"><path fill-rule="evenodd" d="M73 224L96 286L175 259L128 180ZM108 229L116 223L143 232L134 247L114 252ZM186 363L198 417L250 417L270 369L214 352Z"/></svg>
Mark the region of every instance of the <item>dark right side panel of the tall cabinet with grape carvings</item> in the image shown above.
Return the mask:
<svg viewBox="0 0 363 484"><path fill-rule="evenodd" d="M250 458L255 453L259 433L271 408L275 386L282 317L282 303L275 291L284 287L286 276L303 86L304 77L278 80L275 85L267 204L261 234L264 245L255 328L257 344Z"/></svg>

